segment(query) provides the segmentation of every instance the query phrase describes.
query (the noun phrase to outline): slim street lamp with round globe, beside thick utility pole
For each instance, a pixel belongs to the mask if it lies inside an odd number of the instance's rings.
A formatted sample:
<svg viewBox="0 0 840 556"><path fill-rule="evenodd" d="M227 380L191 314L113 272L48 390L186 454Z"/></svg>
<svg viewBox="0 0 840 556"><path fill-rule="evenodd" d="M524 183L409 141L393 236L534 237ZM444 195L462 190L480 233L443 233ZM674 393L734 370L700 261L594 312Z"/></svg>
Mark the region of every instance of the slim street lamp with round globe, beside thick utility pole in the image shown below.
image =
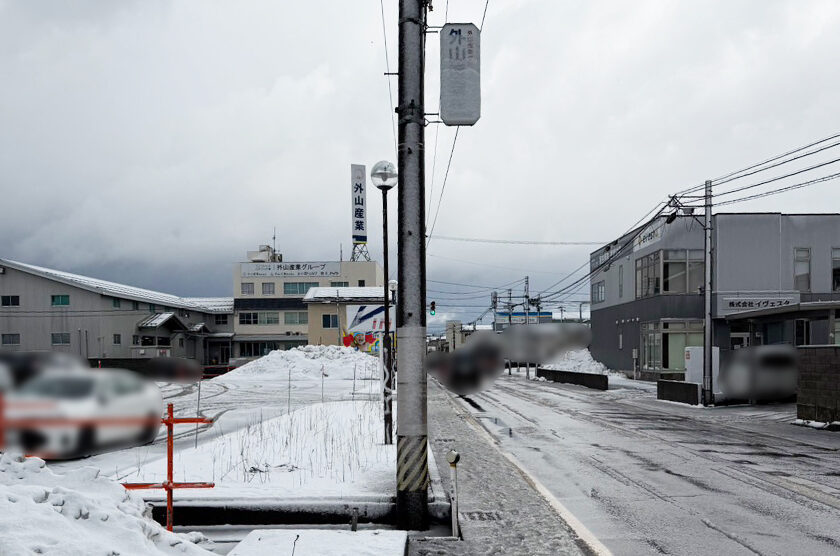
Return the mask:
<svg viewBox="0 0 840 556"><path fill-rule="evenodd" d="M384 306L385 306L385 338L382 349L385 350L385 392L383 396L385 410L385 444L394 443L394 419L391 408L392 392L394 389L394 373L391 356L391 316L389 290L392 282L388 280L388 191L397 185L397 168L387 160L380 160L373 165L370 171L370 179L380 191L382 191L382 270L385 273L383 281ZM393 289L396 290L396 281L393 281Z"/></svg>

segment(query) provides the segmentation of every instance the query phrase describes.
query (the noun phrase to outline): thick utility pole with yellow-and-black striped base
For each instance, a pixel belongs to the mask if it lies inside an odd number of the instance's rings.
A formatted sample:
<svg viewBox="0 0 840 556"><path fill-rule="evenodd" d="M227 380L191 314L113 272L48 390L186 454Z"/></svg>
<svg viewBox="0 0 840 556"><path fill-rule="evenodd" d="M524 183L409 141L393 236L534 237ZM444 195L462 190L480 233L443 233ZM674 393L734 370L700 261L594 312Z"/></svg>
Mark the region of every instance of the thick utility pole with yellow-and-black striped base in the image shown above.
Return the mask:
<svg viewBox="0 0 840 556"><path fill-rule="evenodd" d="M397 527L429 528L423 71L426 0L399 10Z"/></svg>

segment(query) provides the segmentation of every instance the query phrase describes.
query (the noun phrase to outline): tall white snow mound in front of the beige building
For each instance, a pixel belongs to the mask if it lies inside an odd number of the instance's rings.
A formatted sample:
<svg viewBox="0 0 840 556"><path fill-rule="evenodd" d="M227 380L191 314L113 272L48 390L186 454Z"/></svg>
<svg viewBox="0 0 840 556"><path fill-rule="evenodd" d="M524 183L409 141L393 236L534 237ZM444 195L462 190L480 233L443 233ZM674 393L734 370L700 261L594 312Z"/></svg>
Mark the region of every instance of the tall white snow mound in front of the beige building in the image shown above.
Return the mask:
<svg viewBox="0 0 840 556"><path fill-rule="evenodd" d="M285 379L289 370L293 380L321 380L322 369L327 379L353 380L354 368L357 379L378 377L375 371L378 364L377 358L344 346L303 346L286 351L272 351L214 380L227 382Z"/></svg>

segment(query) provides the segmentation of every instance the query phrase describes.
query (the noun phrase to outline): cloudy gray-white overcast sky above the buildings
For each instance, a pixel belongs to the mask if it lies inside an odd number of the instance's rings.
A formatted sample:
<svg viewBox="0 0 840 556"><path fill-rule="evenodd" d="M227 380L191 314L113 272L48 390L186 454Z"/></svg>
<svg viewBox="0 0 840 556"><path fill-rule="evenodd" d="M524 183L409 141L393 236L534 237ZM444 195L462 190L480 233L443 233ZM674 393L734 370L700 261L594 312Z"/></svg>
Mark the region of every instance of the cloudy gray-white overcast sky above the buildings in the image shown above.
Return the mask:
<svg viewBox="0 0 840 556"><path fill-rule="evenodd" d="M484 5L452 0L449 21ZM394 0L385 19L396 71ZM835 0L490 0L482 117L435 233L609 241L668 193L837 132L839 25ZM274 226L286 260L347 257L350 164L396 158L384 72L379 0L0 0L0 257L195 296L231 295ZM427 128L434 206L454 131ZM838 183L732 208L838 212ZM539 291L590 249L433 239L428 274Z"/></svg>

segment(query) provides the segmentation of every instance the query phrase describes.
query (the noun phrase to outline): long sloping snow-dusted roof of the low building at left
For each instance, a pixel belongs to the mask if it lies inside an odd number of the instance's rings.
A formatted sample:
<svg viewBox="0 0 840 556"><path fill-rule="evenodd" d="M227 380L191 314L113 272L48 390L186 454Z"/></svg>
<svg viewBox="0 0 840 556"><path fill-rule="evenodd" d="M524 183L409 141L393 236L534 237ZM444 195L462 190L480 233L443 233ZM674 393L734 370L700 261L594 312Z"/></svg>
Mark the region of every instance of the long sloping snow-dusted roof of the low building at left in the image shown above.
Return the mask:
<svg viewBox="0 0 840 556"><path fill-rule="evenodd" d="M100 280L98 278L91 278L89 276L82 276L80 274L72 274L70 272L63 272L61 270L53 270L51 268L44 268L31 264L21 263L18 261L10 261L7 259L0 259L0 265L7 266L27 272L48 280L55 280L71 286L76 286L85 290L117 297L121 299L130 299L134 301L143 301L146 303L160 304L168 307L176 307L179 309L193 309L196 311L203 311L205 313L229 313L233 312L233 298L190 298L179 297L154 290L147 290L145 288L138 288L135 286L127 286L125 284L118 284L116 282L109 282L107 280ZM206 304L202 302L206 301ZM213 301L210 301L213 300ZM223 302L222 300L226 300ZM227 302L229 300L229 303Z"/></svg>

